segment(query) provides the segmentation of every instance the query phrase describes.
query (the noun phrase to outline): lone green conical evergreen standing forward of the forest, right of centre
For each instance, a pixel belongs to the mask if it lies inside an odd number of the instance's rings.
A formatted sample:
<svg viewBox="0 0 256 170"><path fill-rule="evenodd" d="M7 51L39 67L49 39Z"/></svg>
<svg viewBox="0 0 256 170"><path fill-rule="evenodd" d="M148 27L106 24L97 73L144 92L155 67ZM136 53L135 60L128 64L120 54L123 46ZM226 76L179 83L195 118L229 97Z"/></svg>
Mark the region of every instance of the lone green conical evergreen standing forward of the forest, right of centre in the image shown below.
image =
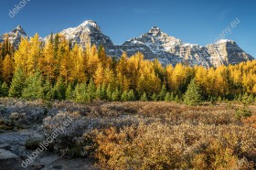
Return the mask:
<svg viewBox="0 0 256 170"><path fill-rule="evenodd" d="M201 102L200 90L196 84L195 80L191 80L190 84L187 87L187 91L184 95L184 103L187 105L198 105Z"/></svg>

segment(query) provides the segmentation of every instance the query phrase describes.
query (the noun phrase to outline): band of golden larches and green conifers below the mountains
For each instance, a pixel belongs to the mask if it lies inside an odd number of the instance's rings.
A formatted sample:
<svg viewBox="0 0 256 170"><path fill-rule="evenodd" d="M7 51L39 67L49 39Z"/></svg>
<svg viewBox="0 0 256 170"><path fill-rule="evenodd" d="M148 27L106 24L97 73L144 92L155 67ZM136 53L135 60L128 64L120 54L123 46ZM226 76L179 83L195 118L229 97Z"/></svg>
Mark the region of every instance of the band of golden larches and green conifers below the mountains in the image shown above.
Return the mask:
<svg viewBox="0 0 256 170"><path fill-rule="evenodd" d="M181 63L163 67L142 53L107 56L102 46L70 46L62 35L45 44L36 34L18 48L0 43L0 95L25 99L92 101L180 101L194 80L203 100L256 96L256 60L205 69Z"/></svg>

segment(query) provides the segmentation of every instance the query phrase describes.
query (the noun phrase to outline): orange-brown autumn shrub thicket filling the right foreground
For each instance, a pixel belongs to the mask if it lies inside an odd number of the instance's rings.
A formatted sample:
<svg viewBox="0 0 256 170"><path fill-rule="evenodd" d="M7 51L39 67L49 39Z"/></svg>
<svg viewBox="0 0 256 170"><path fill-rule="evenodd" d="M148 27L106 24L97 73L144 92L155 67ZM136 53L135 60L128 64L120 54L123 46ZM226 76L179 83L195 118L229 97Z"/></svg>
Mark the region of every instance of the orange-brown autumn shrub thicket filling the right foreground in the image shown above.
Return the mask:
<svg viewBox="0 0 256 170"><path fill-rule="evenodd" d="M236 125L160 122L93 132L106 169L250 169L256 131Z"/></svg>

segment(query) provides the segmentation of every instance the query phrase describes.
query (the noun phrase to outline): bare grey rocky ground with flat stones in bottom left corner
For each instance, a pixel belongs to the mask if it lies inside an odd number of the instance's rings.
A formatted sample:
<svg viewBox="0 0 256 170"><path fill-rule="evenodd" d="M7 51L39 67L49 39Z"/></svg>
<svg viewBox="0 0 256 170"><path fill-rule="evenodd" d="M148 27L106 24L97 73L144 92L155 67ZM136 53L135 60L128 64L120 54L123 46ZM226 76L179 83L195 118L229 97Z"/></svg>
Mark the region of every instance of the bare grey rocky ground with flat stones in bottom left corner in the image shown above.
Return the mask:
<svg viewBox="0 0 256 170"><path fill-rule="evenodd" d="M33 164L22 167L22 159L27 158L33 151L26 149L27 140L34 137L35 130L23 130L0 134L0 170L84 170L97 169L91 159L67 158L59 154L44 152ZM39 136L37 136L39 138Z"/></svg>

